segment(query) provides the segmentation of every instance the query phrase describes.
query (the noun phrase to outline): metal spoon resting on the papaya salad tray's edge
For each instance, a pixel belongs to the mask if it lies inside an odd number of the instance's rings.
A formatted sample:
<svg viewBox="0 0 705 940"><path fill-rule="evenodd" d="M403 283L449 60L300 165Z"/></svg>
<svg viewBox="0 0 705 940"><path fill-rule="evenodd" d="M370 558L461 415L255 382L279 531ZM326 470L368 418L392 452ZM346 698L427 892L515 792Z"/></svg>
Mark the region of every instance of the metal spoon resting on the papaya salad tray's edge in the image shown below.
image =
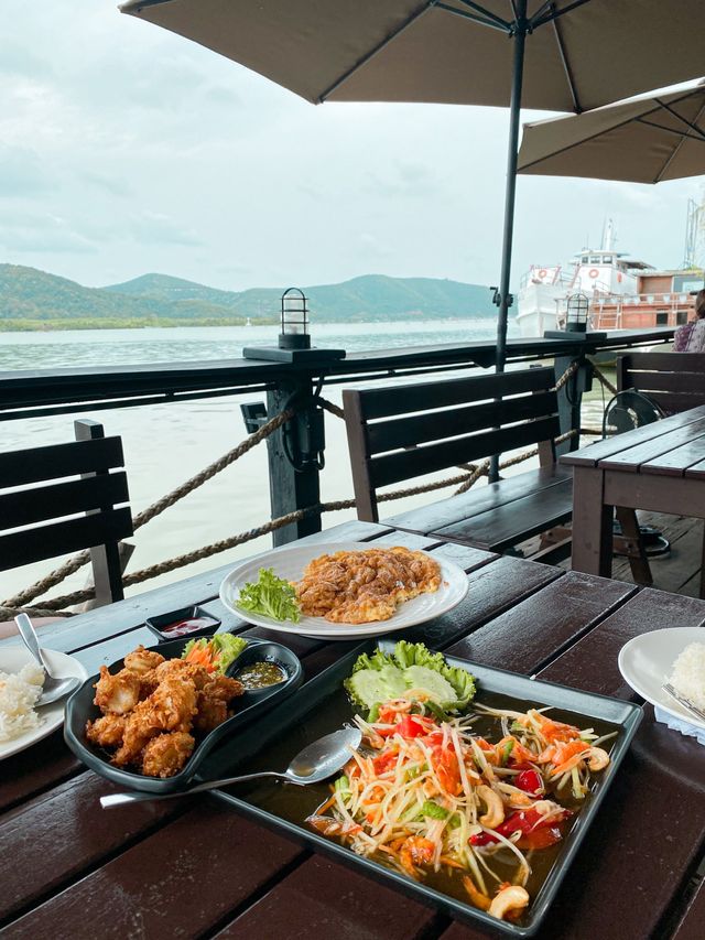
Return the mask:
<svg viewBox="0 0 705 940"><path fill-rule="evenodd" d="M185 797L189 793L199 793L202 790L215 790L219 787L229 787L230 784L241 784L245 780L257 780L259 777L279 777L289 780L290 784L319 784L327 777L344 767L350 759L350 749L359 747L362 733L356 727L344 727L334 731L325 737L314 741L304 747L293 758L283 774L274 770L258 770L257 774L245 774L241 777L226 777L223 780L208 780L206 784L197 784L188 790L178 790L175 793L148 793L134 790L131 793L112 793L109 797L100 797L100 806L105 809L119 807L122 803L137 803L143 800L169 800L172 797Z"/></svg>

